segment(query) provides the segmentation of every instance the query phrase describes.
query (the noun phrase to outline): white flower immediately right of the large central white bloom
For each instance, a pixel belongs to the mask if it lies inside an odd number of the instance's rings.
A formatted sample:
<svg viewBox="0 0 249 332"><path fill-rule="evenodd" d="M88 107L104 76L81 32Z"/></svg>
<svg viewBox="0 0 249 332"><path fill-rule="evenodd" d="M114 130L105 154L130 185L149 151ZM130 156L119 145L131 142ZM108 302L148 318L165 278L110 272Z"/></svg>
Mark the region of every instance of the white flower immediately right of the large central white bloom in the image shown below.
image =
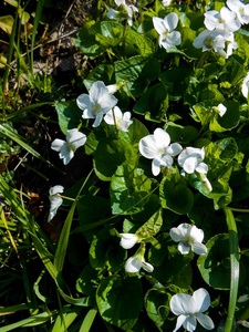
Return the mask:
<svg viewBox="0 0 249 332"><path fill-rule="evenodd" d="M208 166L203 163L204 158L204 147L186 147L178 156L178 164L188 174L193 174L195 170L201 174L207 174Z"/></svg>

